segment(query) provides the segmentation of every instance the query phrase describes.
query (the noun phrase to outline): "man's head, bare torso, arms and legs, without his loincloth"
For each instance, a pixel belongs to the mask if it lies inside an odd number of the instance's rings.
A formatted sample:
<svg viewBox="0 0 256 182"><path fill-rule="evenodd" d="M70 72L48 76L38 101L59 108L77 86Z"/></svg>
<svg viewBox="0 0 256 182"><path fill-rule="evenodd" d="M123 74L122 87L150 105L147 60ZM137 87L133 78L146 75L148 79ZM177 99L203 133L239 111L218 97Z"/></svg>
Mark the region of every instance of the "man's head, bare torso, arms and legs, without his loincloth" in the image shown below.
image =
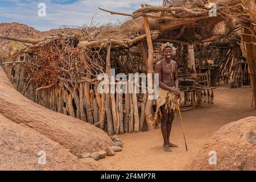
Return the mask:
<svg viewBox="0 0 256 182"><path fill-rule="evenodd" d="M170 45L170 44L169 44ZM156 63L155 73L159 73L159 86L164 90L173 92L176 96L180 96L179 81L177 79L177 63L171 60L175 50L168 44L164 46L164 59ZM174 88L175 86L175 88ZM160 107L162 113L161 131L164 139L164 151L171 152L170 147L178 147L170 142L170 134L172 129L172 121L174 120L174 110L168 112L165 104Z"/></svg>

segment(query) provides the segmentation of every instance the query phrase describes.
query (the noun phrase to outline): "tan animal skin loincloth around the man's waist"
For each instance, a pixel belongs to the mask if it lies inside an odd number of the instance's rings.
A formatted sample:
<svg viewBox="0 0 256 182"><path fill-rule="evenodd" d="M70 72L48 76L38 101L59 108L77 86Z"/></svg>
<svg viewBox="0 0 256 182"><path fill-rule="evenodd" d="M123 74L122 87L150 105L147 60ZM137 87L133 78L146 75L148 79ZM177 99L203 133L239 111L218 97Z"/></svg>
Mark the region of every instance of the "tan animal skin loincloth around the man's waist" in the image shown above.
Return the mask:
<svg viewBox="0 0 256 182"><path fill-rule="evenodd" d="M173 87L175 88L175 86ZM165 109L167 113L171 113L171 110L177 110L177 106L180 105L181 98L177 98L173 92L164 90L159 87L158 99L156 100L156 112L154 117L154 123L161 123L162 113L160 107L166 104Z"/></svg>

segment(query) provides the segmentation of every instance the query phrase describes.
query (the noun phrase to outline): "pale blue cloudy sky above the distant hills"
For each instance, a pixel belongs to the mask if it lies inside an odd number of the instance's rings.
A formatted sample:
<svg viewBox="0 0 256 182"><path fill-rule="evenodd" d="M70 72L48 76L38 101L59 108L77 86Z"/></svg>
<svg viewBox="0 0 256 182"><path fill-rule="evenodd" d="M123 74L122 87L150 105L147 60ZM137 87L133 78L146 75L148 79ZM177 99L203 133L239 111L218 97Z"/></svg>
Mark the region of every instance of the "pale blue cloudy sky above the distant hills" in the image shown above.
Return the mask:
<svg viewBox="0 0 256 182"><path fill-rule="evenodd" d="M39 3L46 5L46 16L39 17ZM115 23L126 20L127 16L110 15L98 10L132 13L140 5L162 5L162 0L0 0L0 23L19 22L40 31L59 28L61 25L89 25L92 16L93 24Z"/></svg>

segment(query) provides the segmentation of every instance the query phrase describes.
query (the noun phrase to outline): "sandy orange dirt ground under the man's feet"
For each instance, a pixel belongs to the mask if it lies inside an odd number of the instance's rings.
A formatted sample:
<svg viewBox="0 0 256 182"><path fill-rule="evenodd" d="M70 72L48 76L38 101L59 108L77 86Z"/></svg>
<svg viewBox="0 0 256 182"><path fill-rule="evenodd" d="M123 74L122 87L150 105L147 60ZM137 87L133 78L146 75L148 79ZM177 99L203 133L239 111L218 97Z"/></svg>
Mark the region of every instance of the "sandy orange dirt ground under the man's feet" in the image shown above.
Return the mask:
<svg viewBox="0 0 256 182"><path fill-rule="evenodd" d="M251 88L230 89L221 85L214 90L214 105L203 104L191 111L182 113L188 152L185 151L179 117L175 118L171 142L179 145L172 152L163 151L160 129L147 132L123 134L123 150L111 158L101 159L99 163L109 170L182 170L192 162L221 126L238 119L256 116L251 107L253 92Z"/></svg>

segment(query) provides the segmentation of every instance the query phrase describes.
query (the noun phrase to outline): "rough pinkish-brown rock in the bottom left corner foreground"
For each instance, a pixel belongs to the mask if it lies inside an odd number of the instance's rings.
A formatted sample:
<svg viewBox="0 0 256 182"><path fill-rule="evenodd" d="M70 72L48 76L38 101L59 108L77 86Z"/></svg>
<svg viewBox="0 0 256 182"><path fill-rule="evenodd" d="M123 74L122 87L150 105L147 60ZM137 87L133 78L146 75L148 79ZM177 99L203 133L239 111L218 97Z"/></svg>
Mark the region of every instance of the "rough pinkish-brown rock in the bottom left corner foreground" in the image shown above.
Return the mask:
<svg viewBox="0 0 256 182"><path fill-rule="evenodd" d="M95 160L78 159L59 143L31 127L10 121L2 114L0 148L0 171L104 170Z"/></svg>

